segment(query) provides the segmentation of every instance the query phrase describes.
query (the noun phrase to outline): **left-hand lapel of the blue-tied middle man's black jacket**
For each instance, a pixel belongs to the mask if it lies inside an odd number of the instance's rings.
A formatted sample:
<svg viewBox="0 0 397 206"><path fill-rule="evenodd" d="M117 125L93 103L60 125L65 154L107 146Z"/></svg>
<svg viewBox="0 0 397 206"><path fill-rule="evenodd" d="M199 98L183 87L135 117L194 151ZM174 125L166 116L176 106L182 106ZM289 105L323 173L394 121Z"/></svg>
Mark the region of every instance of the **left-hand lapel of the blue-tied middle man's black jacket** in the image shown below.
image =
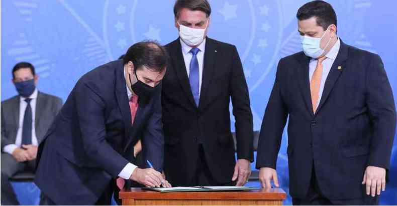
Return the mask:
<svg viewBox="0 0 397 206"><path fill-rule="evenodd" d="M174 45L172 45L172 50L173 51L171 54L175 54L173 68L175 70L176 76L179 79L179 83L182 86L182 89L185 92L187 99L189 99L190 103L193 104L195 107L196 104L194 102L193 94L191 93L189 78L187 76L186 65L183 59L182 47L180 45L179 39L174 41Z"/></svg>

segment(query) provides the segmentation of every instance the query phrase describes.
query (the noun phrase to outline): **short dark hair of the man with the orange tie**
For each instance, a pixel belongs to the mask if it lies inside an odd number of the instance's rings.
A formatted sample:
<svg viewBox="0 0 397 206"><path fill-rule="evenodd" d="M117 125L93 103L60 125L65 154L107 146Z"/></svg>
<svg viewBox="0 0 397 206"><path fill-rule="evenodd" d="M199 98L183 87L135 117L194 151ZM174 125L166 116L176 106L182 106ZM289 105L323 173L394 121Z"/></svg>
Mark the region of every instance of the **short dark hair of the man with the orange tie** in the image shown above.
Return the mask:
<svg viewBox="0 0 397 206"><path fill-rule="evenodd" d="M299 8L296 18L300 21L316 17L318 26L327 30L330 25L336 26L336 14L332 6L324 1L313 1Z"/></svg>

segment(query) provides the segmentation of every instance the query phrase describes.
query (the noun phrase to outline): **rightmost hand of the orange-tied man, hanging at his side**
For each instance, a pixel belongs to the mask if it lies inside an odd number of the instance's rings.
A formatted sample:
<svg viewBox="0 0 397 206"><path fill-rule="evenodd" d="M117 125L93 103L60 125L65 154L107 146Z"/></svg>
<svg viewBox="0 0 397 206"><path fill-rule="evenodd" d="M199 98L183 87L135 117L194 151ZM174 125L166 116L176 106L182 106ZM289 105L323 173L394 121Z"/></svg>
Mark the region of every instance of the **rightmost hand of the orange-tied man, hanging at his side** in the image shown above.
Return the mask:
<svg viewBox="0 0 397 206"><path fill-rule="evenodd" d="M365 169L361 184L366 184L367 195L380 195L380 189L386 189L386 169L375 166L368 166Z"/></svg>

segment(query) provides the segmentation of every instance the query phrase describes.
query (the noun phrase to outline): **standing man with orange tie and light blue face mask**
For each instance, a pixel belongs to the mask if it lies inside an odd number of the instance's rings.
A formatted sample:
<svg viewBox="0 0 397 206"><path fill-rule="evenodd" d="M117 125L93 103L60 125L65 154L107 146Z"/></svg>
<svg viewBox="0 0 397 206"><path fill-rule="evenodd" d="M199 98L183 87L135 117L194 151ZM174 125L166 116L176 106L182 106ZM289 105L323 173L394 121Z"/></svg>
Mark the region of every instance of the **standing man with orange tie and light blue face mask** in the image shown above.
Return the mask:
<svg viewBox="0 0 397 206"><path fill-rule="evenodd" d="M395 105L380 57L338 38L324 1L297 14L303 52L282 58L258 143L263 187L278 186L276 161L288 121L294 205L378 204L395 132Z"/></svg>

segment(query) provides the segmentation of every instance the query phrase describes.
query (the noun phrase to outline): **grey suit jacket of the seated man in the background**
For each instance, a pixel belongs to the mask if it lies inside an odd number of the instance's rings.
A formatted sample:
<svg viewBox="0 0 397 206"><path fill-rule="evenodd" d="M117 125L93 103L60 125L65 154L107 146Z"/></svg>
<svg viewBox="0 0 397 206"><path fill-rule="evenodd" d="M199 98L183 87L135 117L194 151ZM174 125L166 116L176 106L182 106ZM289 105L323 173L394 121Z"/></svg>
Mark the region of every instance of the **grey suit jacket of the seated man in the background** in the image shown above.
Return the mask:
<svg viewBox="0 0 397 206"><path fill-rule="evenodd" d="M2 152L6 145L15 144L19 127L20 101L21 97L18 95L2 102ZM38 92L35 131L39 144L61 107L62 100L59 97Z"/></svg>

